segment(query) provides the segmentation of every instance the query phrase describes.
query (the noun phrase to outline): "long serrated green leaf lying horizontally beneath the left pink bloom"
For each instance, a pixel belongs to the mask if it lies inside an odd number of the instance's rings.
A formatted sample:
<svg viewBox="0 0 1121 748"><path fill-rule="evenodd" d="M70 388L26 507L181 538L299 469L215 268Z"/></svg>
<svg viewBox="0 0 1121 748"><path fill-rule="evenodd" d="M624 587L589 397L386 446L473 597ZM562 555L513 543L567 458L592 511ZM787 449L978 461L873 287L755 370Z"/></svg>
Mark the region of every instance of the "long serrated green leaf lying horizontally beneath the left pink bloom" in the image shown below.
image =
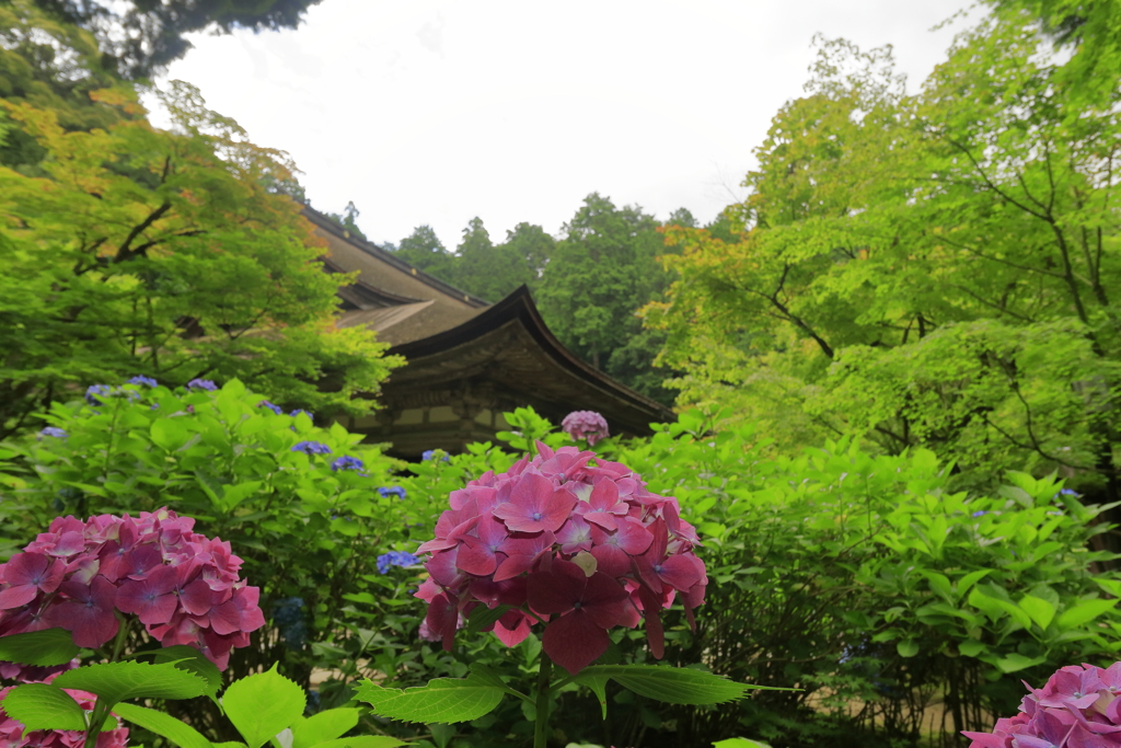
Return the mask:
<svg viewBox="0 0 1121 748"><path fill-rule="evenodd" d="M170 663L135 661L86 665L55 678L59 689L98 694L109 704L126 699L194 699L206 692L206 682Z"/></svg>

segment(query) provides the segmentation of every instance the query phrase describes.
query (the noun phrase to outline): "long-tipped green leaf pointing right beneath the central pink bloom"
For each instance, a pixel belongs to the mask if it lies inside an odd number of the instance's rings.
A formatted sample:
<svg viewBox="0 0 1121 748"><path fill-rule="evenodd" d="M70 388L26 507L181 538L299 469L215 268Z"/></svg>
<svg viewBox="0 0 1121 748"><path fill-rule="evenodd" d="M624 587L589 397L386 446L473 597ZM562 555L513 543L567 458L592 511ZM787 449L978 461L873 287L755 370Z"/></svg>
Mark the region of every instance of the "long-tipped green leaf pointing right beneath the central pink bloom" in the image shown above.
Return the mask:
<svg viewBox="0 0 1121 748"><path fill-rule="evenodd" d="M576 682L596 676L610 677L641 696L669 704L723 704L741 699L750 690L797 690L735 683L704 671L658 665L593 665L582 669Z"/></svg>

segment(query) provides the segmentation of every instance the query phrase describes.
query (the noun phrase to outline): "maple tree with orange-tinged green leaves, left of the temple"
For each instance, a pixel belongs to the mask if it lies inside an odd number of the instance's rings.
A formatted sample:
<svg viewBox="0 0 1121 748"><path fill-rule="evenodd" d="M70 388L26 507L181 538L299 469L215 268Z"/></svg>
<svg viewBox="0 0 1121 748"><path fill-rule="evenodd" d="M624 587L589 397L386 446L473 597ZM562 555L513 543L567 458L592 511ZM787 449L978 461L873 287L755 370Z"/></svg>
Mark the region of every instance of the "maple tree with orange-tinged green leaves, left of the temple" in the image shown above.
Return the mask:
<svg viewBox="0 0 1121 748"><path fill-rule="evenodd" d="M93 95L121 112L105 129L68 131L36 98L0 101L45 153L43 176L0 166L0 434L67 388L138 371L368 410L355 394L400 361L372 332L335 326L348 277L322 271L312 225L274 188L291 177L287 157L183 83L165 95L175 132L154 129L130 90Z"/></svg>

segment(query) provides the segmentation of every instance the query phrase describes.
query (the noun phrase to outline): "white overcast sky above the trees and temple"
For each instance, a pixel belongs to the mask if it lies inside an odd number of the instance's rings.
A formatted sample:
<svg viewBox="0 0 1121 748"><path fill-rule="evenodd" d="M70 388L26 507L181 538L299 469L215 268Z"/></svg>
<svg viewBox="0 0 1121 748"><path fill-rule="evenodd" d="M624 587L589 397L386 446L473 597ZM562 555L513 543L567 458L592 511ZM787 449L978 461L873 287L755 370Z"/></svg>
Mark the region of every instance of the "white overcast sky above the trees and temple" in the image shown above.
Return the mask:
<svg viewBox="0 0 1121 748"><path fill-rule="evenodd" d="M710 221L802 94L815 33L893 45L914 90L966 4L323 0L296 30L195 35L167 77L288 151L314 207L354 201L373 241L428 223L454 249L476 215L495 242L521 221L559 236L591 192Z"/></svg>

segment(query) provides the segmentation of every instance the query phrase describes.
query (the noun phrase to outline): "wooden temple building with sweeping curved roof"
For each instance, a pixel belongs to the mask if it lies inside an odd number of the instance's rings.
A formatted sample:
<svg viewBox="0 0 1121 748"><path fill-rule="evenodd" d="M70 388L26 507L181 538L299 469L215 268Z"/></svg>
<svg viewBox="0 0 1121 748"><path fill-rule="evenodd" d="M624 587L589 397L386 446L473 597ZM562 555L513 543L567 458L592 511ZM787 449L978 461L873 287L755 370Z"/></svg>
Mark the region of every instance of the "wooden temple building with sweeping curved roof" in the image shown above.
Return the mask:
<svg viewBox="0 0 1121 748"><path fill-rule="evenodd" d="M525 286L489 304L312 209L304 214L327 242L327 271L359 274L340 290L340 325L374 330L389 353L407 361L382 385L380 410L343 421L350 431L416 458L494 441L497 431L509 428L502 413L527 405L554 423L572 410L596 410L613 435L646 435L650 423L673 418L665 406L565 350Z"/></svg>

